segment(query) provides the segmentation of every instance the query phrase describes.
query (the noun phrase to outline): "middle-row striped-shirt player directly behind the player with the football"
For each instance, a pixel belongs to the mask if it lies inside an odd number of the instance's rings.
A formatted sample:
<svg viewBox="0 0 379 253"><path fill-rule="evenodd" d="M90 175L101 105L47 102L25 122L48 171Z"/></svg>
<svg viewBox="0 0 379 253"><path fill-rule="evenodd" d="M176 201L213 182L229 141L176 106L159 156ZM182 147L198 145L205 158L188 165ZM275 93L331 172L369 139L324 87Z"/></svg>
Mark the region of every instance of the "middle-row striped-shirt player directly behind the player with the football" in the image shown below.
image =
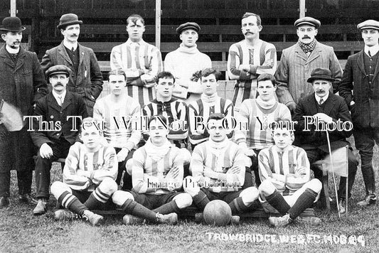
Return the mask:
<svg viewBox="0 0 379 253"><path fill-rule="evenodd" d="M197 144L207 141L209 134L205 124L210 114L222 113L227 117L233 117L233 103L229 99L219 97L217 94L218 80L221 73L213 68L206 68L200 72L203 94L201 98L188 105L189 140L194 148ZM228 138L233 137L233 131L228 133Z"/></svg>

